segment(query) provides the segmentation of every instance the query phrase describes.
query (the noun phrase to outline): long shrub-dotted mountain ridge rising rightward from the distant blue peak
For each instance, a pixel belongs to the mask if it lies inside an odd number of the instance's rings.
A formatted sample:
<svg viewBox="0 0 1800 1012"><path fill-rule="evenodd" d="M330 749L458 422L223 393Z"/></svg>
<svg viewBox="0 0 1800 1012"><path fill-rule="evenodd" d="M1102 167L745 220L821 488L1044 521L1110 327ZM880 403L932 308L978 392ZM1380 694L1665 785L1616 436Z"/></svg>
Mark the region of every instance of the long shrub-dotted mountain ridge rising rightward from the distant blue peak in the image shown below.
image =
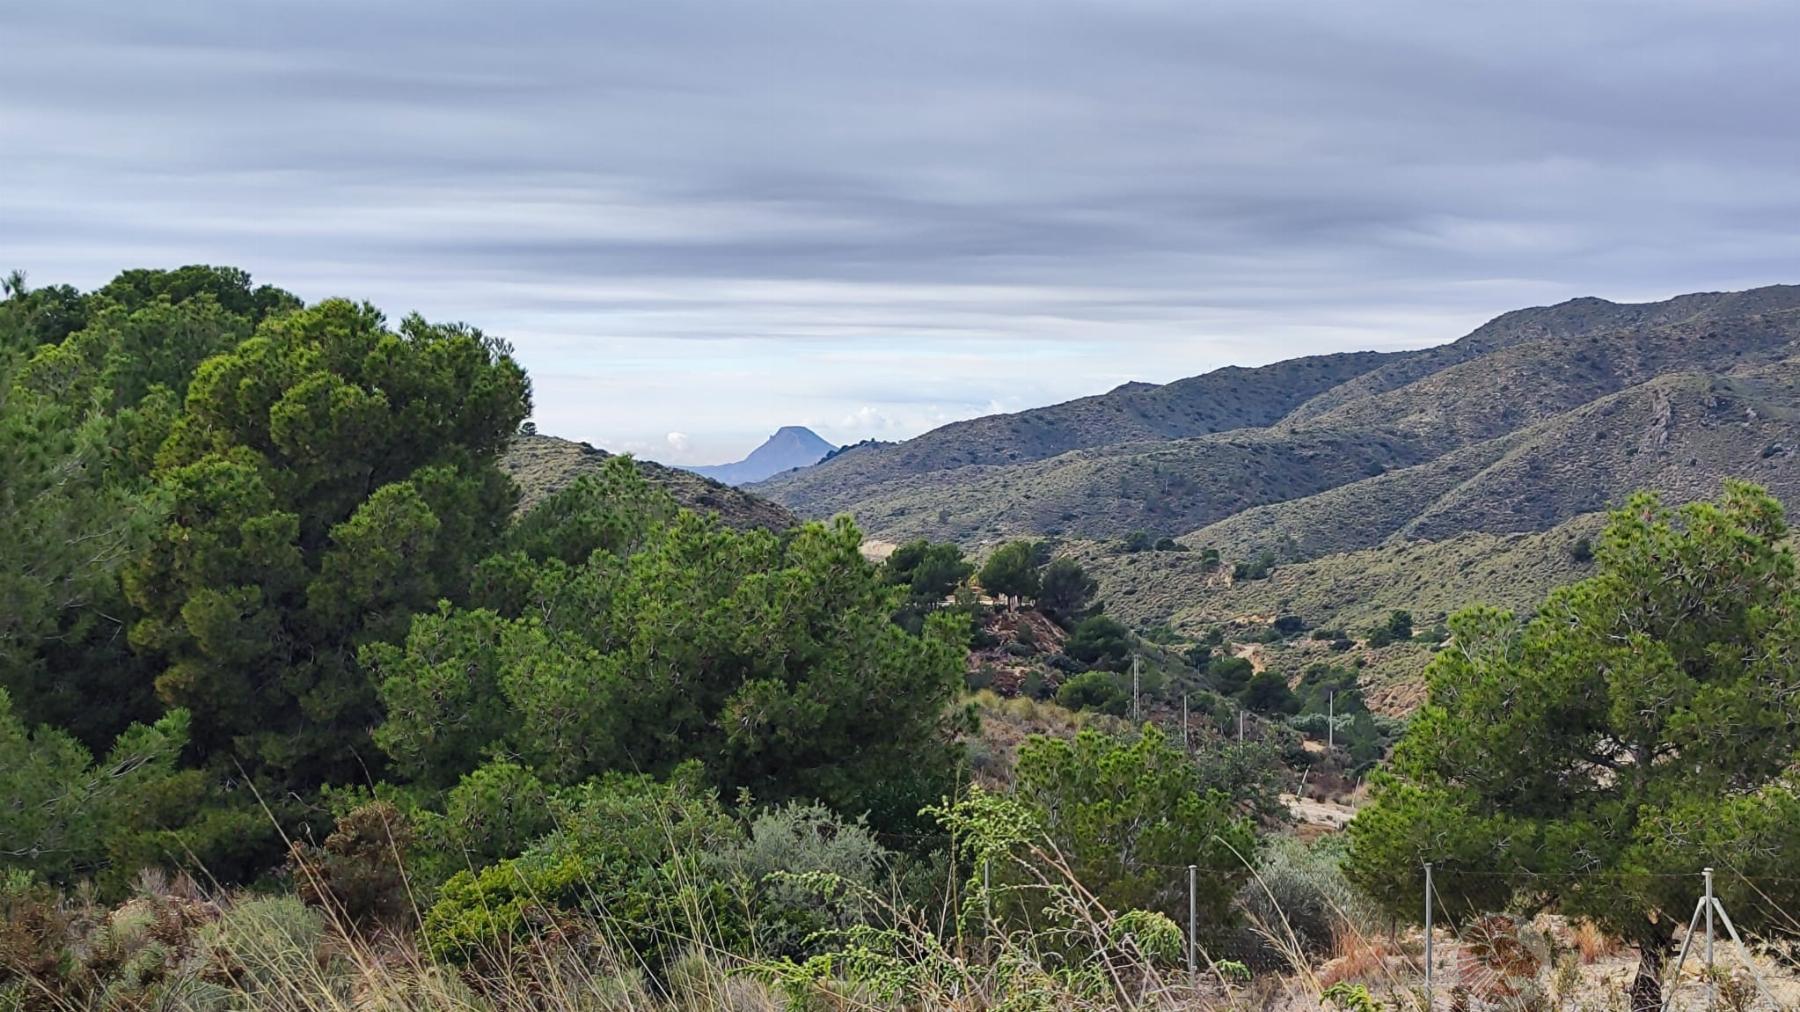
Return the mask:
<svg viewBox="0 0 1800 1012"><path fill-rule="evenodd" d="M1431 488L1438 488L1453 475L1444 468L1492 466L1508 448L1487 443L1658 376L1726 376L1795 355L1800 355L1800 286L1694 294L1663 303L1571 299L1503 313L1436 348L1226 367L1157 387L1129 385L1033 409L1037 418L1048 412L1051 420L1057 412L1073 412L1082 421L1107 414L1121 420L1107 430L1087 425L1084 439L1091 445L1051 456L1008 459L1017 438L977 447L958 443L995 430L1030 432L1033 412L1019 412L844 454L756 490L803 515L848 511L871 537L886 540L931 537L979 546L1022 535L1111 538L1147 529L1195 542L1199 531L1229 524L1240 513L1334 492L1339 504L1350 502L1354 495L1337 490L1442 459L1436 472L1427 468L1409 477L1429 479ZM1294 378L1310 378L1312 385L1292 384ZM1247 391L1262 393L1271 385L1280 387L1282 396L1246 403ZM1183 400L1188 394L1217 398L1233 387L1237 400L1199 407ZM1177 438L1147 432L1145 396L1179 403L1188 425L1231 427ZM1789 423L1777 420L1773 425L1784 430ZM1064 425L1064 434L1078 429ZM1564 434L1564 441L1571 438ZM1769 441L1782 439L1769 436ZM1037 448L1055 448L1055 441L1039 441ZM1618 456L1624 448L1607 452ZM1721 447L1708 445L1705 452L1721 454L1724 461ZM1543 448L1537 457L1548 459ZM1607 474L1631 474L1652 488L1660 477L1620 466ZM1552 495L1543 486L1532 488ZM1442 493L1427 495L1429 488L1400 492L1411 499ZM1606 501L1615 492L1607 486L1595 499ZM1566 511L1555 506L1543 519ZM1528 504L1501 510L1517 522L1537 513L1541 510ZM1474 513L1463 510L1463 515ZM1355 515L1334 520L1336 526L1346 522L1355 524Z"/></svg>

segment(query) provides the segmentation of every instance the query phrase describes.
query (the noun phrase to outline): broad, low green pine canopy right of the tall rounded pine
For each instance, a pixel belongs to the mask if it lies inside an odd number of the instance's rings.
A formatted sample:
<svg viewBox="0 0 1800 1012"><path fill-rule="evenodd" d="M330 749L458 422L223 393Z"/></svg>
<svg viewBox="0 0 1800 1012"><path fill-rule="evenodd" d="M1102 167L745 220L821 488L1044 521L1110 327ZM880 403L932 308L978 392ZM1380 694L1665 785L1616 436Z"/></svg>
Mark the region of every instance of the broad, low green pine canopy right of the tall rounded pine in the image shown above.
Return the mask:
<svg viewBox="0 0 1800 1012"><path fill-rule="evenodd" d="M562 497L634 515L664 501L628 459L549 502L567 526L607 529ZM889 621L895 592L860 542L844 520L776 537L680 513L574 565L495 556L488 607L441 607L403 645L364 650L389 713L378 740L425 783L491 751L551 783L700 760L727 792L911 823L949 785L967 630L949 612L922 636Z"/></svg>

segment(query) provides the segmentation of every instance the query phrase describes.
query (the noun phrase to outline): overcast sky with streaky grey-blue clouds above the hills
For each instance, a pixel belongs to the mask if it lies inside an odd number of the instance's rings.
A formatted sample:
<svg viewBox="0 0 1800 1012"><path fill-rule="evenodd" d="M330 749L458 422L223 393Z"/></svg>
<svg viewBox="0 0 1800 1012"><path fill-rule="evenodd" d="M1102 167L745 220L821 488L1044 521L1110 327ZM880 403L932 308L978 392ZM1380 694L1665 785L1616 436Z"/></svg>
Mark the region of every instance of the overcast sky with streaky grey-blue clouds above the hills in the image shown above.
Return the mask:
<svg viewBox="0 0 1800 1012"><path fill-rule="evenodd" d="M1800 281L1800 4L54 0L0 268L509 339L540 432L837 443Z"/></svg>

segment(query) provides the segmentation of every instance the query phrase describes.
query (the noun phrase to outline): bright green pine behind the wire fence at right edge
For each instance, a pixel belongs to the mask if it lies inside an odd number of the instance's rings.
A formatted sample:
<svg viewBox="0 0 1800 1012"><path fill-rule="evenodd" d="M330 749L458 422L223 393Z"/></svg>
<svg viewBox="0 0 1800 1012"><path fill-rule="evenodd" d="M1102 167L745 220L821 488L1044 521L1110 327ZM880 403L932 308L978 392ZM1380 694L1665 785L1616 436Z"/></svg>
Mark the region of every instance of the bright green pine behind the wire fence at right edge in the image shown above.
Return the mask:
<svg viewBox="0 0 1800 1012"><path fill-rule="evenodd" d="M1415 913L1552 906L1638 945L1636 1008L1699 870L1741 926L1800 900L1800 583L1780 504L1728 483L1670 510L1636 495L1595 574L1523 621L1451 619L1391 776L1350 827L1352 875ZM1499 873L1496 873L1499 872ZM1751 886L1744 877L1771 877Z"/></svg>

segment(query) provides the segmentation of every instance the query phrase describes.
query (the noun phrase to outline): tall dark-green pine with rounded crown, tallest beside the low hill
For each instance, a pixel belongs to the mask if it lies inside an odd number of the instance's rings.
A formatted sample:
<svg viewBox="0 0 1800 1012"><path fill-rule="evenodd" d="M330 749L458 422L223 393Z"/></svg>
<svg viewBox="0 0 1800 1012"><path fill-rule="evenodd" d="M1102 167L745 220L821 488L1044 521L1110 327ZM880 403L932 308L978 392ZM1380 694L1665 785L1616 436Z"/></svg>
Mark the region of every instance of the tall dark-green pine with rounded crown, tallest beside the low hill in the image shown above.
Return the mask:
<svg viewBox="0 0 1800 1012"><path fill-rule="evenodd" d="M464 591L511 483L493 456L529 409L508 348L464 326L326 301L207 358L155 472L171 520L126 569L131 643L194 713L202 758L290 783L367 776L356 668Z"/></svg>

